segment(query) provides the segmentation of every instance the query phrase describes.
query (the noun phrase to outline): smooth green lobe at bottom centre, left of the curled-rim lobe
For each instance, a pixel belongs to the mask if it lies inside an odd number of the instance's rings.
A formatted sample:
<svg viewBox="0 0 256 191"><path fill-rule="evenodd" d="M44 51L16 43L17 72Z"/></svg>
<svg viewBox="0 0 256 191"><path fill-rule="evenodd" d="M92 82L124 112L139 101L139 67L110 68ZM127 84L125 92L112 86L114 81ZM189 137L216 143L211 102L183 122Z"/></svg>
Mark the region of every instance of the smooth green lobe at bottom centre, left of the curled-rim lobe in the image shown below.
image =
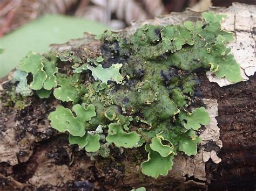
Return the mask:
<svg viewBox="0 0 256 191"><path fill-rule="evenodd" d="M126 133L122 126L117 123L109 124L107 133L106 141L114 143L118 147L132 148L139 141L139 135L136 132Z"/></svg>

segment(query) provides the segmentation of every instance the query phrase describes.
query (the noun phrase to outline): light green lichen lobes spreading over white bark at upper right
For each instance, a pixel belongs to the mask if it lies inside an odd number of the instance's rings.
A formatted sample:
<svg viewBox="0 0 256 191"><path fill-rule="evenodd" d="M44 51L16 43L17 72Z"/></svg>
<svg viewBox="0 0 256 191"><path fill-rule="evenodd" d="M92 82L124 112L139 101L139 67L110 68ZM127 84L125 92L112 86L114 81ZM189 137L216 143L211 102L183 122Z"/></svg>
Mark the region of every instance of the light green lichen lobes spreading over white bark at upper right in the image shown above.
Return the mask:
<svg viewBox="0 0 256 191"><path fill-rule="evenodd" d="M205 25L201 22L198 22L196 26L192 22L185 22L184 25L194 36L199 36L206 42L205 47L200 51L200 57L208 65L211 65L212 72L216 73L218 77L225 76L231 82L240 82L242 81L240 67L234 60L234 56L230 54L231 49L225 46L226 43L233 40L233 34L221 30L220 27L220 22L225 17L225 15L204 12Z"/></svg>

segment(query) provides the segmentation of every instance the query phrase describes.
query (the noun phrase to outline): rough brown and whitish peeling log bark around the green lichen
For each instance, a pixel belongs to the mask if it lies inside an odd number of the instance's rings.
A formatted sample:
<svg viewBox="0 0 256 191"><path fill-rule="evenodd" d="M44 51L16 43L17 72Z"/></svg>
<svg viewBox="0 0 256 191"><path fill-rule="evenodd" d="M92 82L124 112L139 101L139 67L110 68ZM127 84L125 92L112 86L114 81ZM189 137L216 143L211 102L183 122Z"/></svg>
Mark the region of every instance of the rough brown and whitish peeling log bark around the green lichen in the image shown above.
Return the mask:
<svg viewBox="0 0 256 191"><path fill-rule="evenodd" d="M239 10L247 9L247 15L240 19L235 17ZM233 25L235 22L241 23L241 19L252 18L251 12L254 15L256 13L255 6L241 4L235 4L228 9L212 10L234 14ZM147 23L174 24L199 17L200 13L186 11L149 20ZM143 23L145 22L133 23L120 33L129 35ZM241 34L237 35L233 45L245 48L248 54L254 51L255 41L252 46L247 47L240 45L238 38L246 37L250 32L251 36L248 38L252 43L251 39L255 36L255 18L250 24L250 29L242 31L238 30L240 28L237 25L238 28L226 25L231 27L231 31L233 29L236 34ZM52 45L57 50L70 47L75 48L84 58L84 47L95 55L100 53L99 44L89 34L85 34L83 39L71 40L64 45ZM253 56L242 58L248 63L241 66L245 74L246 68L254 67L255 54ZM96 157L91 160L77 146L70 146L68 136L52 129L47 119L49 112L58 104L53 99L38 100L36 96L30 97L29 106L24 109L7 108L0 103L0 189L129 190L145 186L147 190L253 190L256 161L253 152L256 136L255 76L245 76L248 81L226 87L210 82L206 74L202 74L200 78L200 89L211 115L211 123L201 129L203 142L199 145L198 154L193 157L178 155L172 171L157 180L140 172L139 164L146 158L143 150L138 153L133 149L119 150L113 147L110 158ZM2 88L2 95L8 99L6 90L11 88L10 82L2 82Z"/></svg>

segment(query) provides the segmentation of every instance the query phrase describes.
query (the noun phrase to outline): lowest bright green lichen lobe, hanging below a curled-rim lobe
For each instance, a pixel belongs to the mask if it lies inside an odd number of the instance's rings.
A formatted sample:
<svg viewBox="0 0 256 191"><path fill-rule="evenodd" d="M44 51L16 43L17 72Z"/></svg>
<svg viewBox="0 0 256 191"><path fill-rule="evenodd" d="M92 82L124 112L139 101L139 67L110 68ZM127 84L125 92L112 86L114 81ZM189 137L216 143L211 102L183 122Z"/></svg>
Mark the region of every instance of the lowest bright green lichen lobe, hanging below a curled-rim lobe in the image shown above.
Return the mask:
<svg viewBox="0 0 256 191"><path fill-rule="evenodd" d="M142 162L142 173L153 178L158 178L159 175L166 176L172 169L173 155L161 157L161 155L151 150L149 145L145 146L145 150L149 152L147 161Z"/></svg>

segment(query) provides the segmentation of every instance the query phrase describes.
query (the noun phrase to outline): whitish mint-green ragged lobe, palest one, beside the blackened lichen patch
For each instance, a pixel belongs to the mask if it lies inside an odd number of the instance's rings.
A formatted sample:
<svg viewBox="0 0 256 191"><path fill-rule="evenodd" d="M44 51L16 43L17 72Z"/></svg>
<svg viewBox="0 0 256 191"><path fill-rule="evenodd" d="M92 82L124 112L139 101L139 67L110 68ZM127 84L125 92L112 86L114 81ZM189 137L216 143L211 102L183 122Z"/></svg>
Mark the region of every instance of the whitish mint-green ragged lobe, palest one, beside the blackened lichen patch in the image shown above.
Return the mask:
<svg viewBox="0 0 256 191"><path fill-rule="evenodd" d="M92 71L92 76L95 80L101 80L105 83L107 83L107 81L121 83L123 76L119 73L119 69L122 66L122 63L116 63L109 68L103 68L102 65L98 65L97 67L87 66L87 68Z"/></svg>

